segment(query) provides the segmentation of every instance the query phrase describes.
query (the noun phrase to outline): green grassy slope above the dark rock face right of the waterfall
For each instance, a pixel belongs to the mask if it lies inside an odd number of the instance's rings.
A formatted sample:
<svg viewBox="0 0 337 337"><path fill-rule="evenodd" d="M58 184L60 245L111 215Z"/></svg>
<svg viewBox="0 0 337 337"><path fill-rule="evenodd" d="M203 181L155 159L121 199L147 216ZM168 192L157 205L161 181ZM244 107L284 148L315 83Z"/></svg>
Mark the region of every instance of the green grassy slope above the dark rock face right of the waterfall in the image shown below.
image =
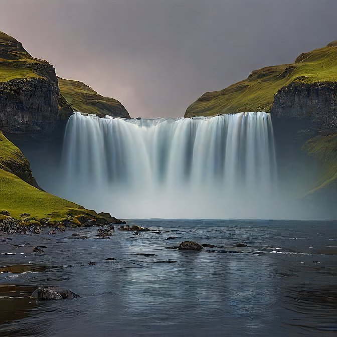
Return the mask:
<svg viewBox="0 0 337 337"><path fill-rule="evenodd" d="M274 95L292 82L337 81L337 40L301 54L293 64L254 70L247 79L220 91L207 92L186 110L185 117L270 111Z"/></svg>

